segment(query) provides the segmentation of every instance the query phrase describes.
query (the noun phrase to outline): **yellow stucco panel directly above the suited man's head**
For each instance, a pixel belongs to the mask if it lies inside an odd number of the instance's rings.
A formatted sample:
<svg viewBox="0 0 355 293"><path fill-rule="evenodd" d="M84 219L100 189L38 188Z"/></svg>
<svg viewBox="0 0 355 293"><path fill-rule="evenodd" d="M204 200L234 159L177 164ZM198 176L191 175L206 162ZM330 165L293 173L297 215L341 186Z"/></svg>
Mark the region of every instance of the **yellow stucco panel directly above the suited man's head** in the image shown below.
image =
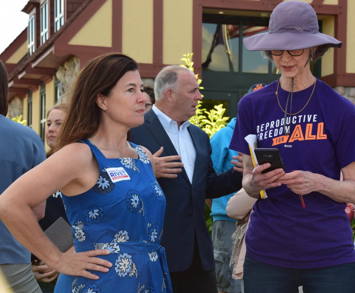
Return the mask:
<svg viewBox="0 0 355 293"><path fill-rule="evenodd" d="M192 1L163 2L163 63L180 64L192 52Z"/></svg>

